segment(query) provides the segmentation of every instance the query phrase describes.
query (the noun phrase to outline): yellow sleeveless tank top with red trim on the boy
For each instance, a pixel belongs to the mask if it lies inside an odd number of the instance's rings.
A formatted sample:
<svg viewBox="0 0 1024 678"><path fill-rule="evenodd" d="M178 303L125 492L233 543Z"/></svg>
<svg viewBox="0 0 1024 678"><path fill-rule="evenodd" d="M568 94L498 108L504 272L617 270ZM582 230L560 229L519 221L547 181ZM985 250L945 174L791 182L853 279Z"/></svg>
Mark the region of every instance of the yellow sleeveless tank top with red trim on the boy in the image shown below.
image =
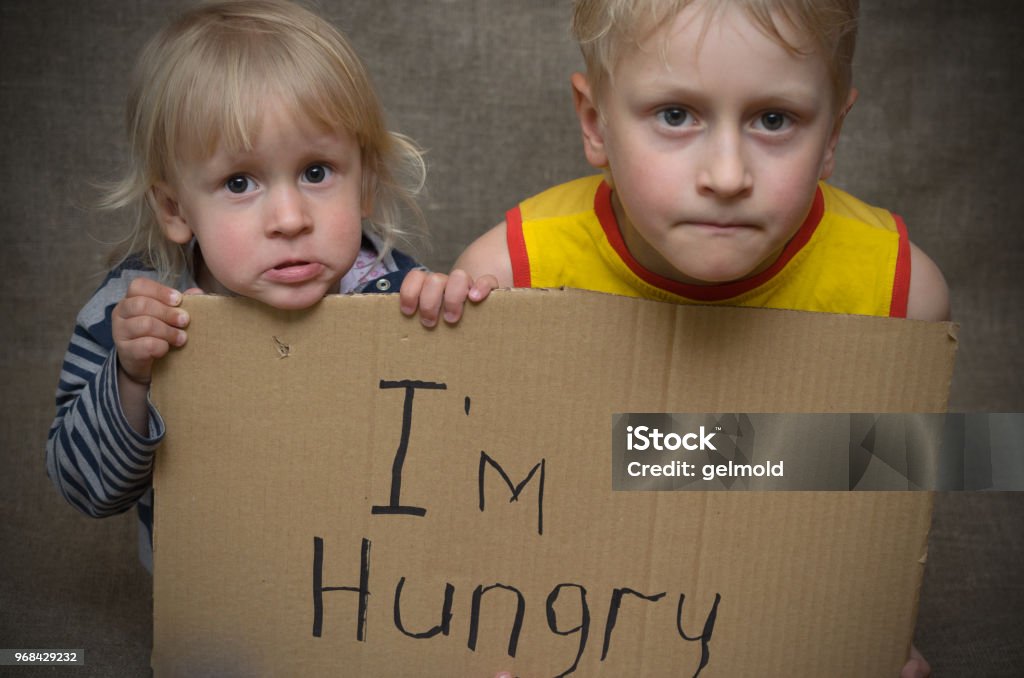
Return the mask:
<svg viewBox="0 0 1024 678"><path fill-rule="evenodd" d="M574 287L676 303L904 317L910 245L903 221L819 182L782 254L752 278L689 285L654 273L623 241L601 176L549 188L506 214L516 287Z"/></svg>

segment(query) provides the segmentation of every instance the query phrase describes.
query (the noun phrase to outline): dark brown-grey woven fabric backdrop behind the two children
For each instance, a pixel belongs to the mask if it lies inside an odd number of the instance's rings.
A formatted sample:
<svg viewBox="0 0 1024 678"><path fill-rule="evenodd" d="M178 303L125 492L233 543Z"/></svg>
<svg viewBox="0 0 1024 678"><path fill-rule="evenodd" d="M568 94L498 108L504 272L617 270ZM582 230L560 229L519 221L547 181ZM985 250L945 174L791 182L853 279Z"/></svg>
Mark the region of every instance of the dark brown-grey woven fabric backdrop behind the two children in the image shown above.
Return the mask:
<svg viewBox="0 0 1024 678"><path fill-rule="evenodd" d="M951 408L1021 411L1024 5L862 4L861 94L835 182L902 214L945 272L962 324ZM90 182L122 166L134 54L181 6L0 2L0 647L84 647L75 675L148 667L133 518L78 515L45 476L43 443L75 313L123 232L88 208ZM588 171L567 0L318 6L366 59L392 126L428 152L430 265L451 265L518 199ZM938 676L1020 675L1022 520L1022 493L937 498L918 643Z"/></svg>

